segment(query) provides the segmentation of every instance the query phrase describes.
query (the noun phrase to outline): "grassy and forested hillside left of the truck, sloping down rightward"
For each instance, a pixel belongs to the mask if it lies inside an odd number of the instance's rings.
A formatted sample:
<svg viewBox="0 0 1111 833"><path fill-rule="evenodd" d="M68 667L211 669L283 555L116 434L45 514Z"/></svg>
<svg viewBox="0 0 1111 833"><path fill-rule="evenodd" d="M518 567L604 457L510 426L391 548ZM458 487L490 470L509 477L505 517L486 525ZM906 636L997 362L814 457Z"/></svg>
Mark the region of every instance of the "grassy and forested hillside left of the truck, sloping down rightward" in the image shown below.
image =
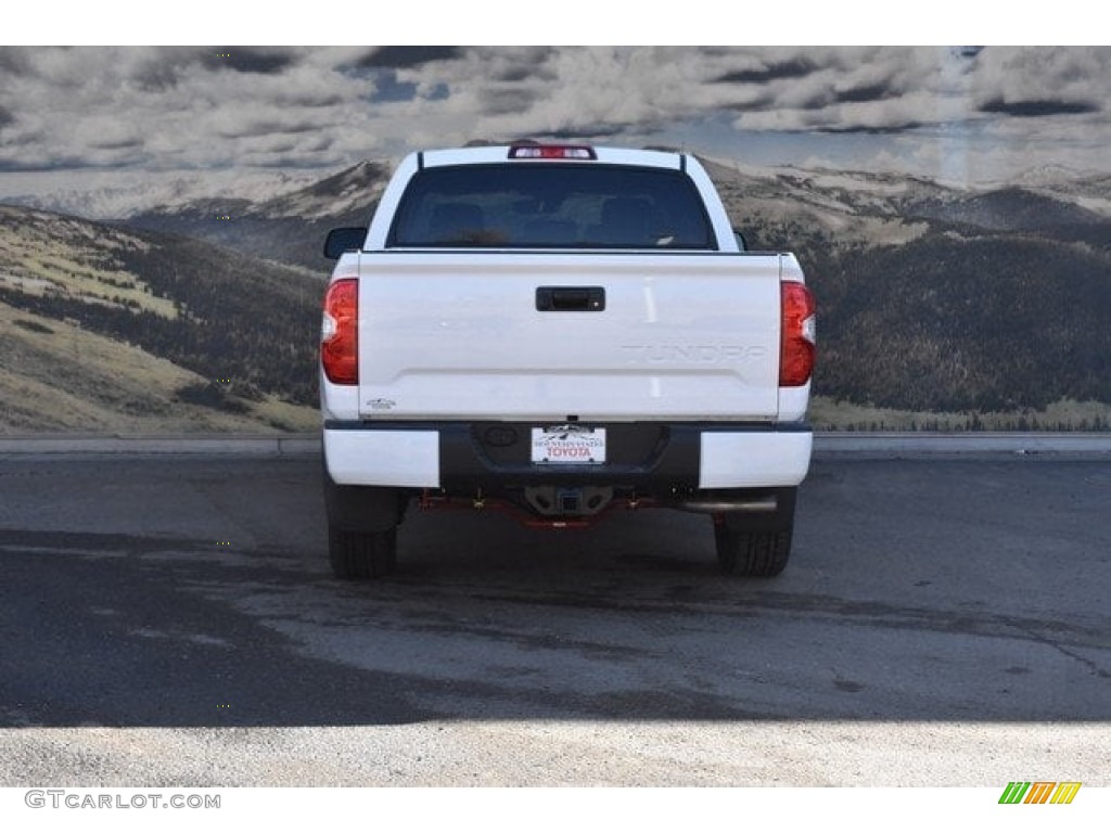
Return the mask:
<svg viewBox="0 0 1111 833"><path fill-rule="evenodd" d="M0 205L0 433L316 424L319 275Z"/></svg>

